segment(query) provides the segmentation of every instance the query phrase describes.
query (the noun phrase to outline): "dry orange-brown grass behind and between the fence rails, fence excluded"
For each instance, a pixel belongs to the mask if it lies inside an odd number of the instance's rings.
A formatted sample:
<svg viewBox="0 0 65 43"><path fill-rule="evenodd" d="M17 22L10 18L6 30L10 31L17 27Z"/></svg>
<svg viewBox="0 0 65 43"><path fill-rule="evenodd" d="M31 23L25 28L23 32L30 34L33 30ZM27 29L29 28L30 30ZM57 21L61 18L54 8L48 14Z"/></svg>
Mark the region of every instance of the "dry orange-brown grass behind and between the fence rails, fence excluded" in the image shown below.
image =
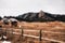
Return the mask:
<svg viewBox="0 0 65 43"><path fill-rule="evenodd" d="M1 24L2 25L2 24ZM65 23L63 22L48 22L48 23L17 23L17 27L12 27L11 25L2 25L4 28L13 28L13 29L29 29L29 30L44 30L44 31L52 31L52 32L62 32L62 33L50 33L50 32L42 32L43 38L54 39L58 41L65 42ZM8 27L9 26L9 27ZM21 26L21 27L20 27ZM14 30L15 32L20 32L20 30ZM26 34L32 34L32 35L39 35L39 32L24 32ZM64 34L63 34L64 33ZM20 35L14 35L12 43L18 43ZM26 43L29 40L29 42L39 43L38 40L25 37L24 42ZM20 43L22 43L20 41ZM29 43L28 42L28 43ZM50 41L43 40L42 43L51 43ZM52 42L53 43L53 42Z"/></svg>

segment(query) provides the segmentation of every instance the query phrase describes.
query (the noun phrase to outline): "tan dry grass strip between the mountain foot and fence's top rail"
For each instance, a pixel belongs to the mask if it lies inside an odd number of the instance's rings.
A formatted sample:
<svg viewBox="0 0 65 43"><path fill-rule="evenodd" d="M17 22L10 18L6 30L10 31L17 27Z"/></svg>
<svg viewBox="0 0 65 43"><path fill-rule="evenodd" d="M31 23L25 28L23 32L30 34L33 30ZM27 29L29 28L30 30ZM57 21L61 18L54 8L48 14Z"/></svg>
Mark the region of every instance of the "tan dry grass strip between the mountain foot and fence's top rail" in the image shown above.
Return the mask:
<svg viewBox="0 0 65 43"><path fill-rule="evenodd" d="M65 23L62 22L18 23L18 26L22 26L23 29L42 29L65 32Z"/></svg>

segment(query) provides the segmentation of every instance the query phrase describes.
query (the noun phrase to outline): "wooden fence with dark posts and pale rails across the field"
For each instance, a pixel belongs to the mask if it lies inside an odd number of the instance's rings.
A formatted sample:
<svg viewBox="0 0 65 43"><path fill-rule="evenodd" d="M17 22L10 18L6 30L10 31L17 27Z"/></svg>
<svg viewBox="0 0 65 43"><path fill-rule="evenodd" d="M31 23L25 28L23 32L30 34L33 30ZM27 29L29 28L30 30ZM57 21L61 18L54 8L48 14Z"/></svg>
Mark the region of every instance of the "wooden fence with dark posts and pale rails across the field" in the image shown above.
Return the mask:
<svg viewBox="0 0 65 43"><path fill-rule="evenodd" d="M14 30L20 30L21 32L14 32ZM39 32L39 37L25 34L24 31L25 32L28 32L28 31L29 32ZM52 41L52 42L55 42L55 43L65 43L64 41L58 41L58 40L48 39L48 38L42 37L42 32L65 34L64 32L53 32L53 31L44 31L44 30L29 30L29 29L27 29L27 30L26 29L5 29L4 32L2 33L2 39L3 39L3 35L8 34L8 32L10 32L12 34L12 38L13 38L13 34L21 35L22 40L23 40L24 37L29 37L29 38L39 39L39 43L41 43L42 40Z"/></svg>

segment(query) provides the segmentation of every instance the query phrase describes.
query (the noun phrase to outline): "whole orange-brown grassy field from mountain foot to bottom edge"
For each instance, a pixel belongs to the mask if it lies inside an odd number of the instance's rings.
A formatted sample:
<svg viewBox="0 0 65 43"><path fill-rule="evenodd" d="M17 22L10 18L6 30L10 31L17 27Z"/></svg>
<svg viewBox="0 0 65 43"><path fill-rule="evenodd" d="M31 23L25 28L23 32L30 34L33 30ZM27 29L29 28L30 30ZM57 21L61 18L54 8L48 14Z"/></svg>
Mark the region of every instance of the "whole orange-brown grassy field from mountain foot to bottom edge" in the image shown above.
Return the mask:
<svg viewBox="0 0 65 43"><path fill-rule="evenodd" d="M9 26L9 27L8 27ZM9 39L12 39L12 43L65 43L65 23L63 22L48 22L48 23L17 23L17 27L12 27L11 25L3 25L5 29L13 29L17 34L10 37L10 31L6 33ZM29 37L22 38L22 29L24 34ZM35 37L40 35L40 30L42 34L42 41ZM34 38L32 38L34 37ZM47 39L47 40L46 40ZM50 41L51 40L51 41ZM54 42L55 41L55 42Z"/></svg>

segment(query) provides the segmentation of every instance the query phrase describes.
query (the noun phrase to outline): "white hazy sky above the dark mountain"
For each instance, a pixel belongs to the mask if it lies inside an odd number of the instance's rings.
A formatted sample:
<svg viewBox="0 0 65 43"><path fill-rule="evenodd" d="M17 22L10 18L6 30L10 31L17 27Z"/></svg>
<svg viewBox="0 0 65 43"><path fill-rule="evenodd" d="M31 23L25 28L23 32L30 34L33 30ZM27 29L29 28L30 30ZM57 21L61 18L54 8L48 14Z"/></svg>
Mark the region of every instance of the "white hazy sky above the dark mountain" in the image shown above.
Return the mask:
<svg viewBox="0 0 65 43"><path fill-rule="evenodd" d="M16 16L40 10L53 14L65 14L65 0L0 0L0 16Z"/></svg>

